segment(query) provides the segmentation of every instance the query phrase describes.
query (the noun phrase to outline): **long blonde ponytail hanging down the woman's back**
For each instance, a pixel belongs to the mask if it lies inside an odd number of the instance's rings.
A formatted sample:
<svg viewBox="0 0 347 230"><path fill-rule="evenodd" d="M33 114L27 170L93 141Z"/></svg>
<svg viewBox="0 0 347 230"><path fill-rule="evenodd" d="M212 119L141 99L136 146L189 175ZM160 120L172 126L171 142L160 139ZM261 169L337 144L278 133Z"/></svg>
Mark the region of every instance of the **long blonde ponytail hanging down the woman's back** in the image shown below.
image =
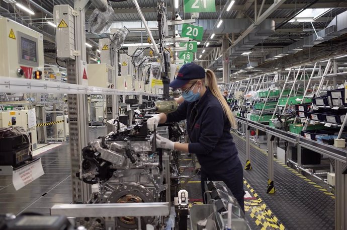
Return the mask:
<svg viewBox="0 0 347 230"><path fill-rule="evenodd" d="M229 119L231 127L235 129L236 128L235 117L231 113L231 110L228 106L228 103L225 101L222 93L220 92L220 90L218 88L216 75L214 74L214 72L212 70L207 69L205 79L206 79L205 85L208 86L208 88L210 89L213 96L215 96L218 99L218 101L220 102L220 104L223 107L223 111L224 111L225 115Z"/></svg>

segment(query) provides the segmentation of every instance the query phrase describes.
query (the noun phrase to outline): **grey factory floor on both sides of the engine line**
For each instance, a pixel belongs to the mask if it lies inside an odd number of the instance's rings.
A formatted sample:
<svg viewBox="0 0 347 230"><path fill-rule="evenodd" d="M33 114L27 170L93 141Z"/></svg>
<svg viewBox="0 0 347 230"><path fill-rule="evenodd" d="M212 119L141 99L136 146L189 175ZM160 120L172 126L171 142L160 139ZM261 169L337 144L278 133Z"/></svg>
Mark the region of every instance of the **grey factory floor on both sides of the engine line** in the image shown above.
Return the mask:
<svg viewBox="0 0 347 230"><path fill-rule="evenodd" d="M106 133L105 127L92 128L90 138ZM245 164L245 142L234 135L242 164ZM264 150L251 145L253 169L244 171L246 218L252 229L334 229L334 197L315 182L275 161L275 194L267 194L267 156ZM54 204L71 203L71 169L68 142L38 155L45 174L16 191L11 176L0 177L0 214L38 212L49 214ZM184 156L183 187L190 203L201 204L200 175ZM196 174L196 175L195 175Z"/></svg>

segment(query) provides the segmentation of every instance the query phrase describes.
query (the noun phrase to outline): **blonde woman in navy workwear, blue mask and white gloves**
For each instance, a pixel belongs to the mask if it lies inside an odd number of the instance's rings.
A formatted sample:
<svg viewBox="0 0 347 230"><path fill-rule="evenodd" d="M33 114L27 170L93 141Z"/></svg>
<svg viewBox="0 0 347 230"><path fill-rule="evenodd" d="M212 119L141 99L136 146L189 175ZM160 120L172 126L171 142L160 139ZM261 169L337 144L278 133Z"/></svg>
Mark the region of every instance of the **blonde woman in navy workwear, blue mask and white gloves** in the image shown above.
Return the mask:
<svg viewBox="0 0 347 230"><path fill-rule="evenodd" d="M153 131L158 123L187 119L191 142L172 142L157 136L157 147L196 154L201 165L203 196L205 181L223 181L244 211L243 171L230 134L230 128L235 127L236 121L217 87L214 72L205 72L195 63L185 64L170 87L181 89L184 102L175 112L160 113L148 119L148 128Z"/></svg>

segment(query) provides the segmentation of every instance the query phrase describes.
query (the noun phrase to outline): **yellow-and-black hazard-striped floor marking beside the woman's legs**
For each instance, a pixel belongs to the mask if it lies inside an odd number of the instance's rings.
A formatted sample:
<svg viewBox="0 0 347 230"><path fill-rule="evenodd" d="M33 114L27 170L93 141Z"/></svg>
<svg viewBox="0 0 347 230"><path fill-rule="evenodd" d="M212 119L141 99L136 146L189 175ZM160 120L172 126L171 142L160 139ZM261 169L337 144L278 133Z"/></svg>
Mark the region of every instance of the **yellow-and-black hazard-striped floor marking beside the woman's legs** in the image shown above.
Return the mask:
<svg viewBox="0 0 347 230"><path fill-rule="evenodd" d="M254 189L248 184L246 180L243 180L244 185L249 189L250 194L257 199L245 200L244 210L249 212L249 215L257 226L262 230L280 229L284 230L285 226L276 217L276 215L270 210L270 208L263 202L263 200L255 193Z"/></svg>

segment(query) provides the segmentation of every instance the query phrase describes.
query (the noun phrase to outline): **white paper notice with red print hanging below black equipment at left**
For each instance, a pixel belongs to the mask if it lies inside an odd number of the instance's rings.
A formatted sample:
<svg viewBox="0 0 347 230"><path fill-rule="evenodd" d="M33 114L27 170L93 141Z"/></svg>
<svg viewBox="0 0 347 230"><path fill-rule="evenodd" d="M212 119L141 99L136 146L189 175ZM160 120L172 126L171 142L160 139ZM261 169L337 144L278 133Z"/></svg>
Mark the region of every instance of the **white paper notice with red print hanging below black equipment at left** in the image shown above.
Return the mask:
<svg viewBox="0 0 347 230"><path fill-rule="evenodd" d="M14 170L12 173L12 183L16 190L19 190L27 184L33 182L37 178L41 177L43 172L41 159L24 166L18 170Z"/></svg>

